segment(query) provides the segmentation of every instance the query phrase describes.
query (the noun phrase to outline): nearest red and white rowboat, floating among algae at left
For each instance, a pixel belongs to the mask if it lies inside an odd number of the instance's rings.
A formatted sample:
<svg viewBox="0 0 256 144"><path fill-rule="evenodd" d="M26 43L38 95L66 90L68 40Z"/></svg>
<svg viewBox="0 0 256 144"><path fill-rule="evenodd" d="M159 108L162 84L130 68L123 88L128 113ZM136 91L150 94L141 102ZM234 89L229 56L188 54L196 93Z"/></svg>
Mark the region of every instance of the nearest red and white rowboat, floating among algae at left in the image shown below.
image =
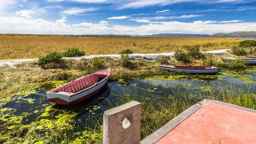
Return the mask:
<svg viewBox="0 0 256 144"><path fill-rule="evenodd" d="M56 87L46 92L46 96L50 102L59 105L78 103L98 93L109 76L110 68L101 70Z"/></svg>

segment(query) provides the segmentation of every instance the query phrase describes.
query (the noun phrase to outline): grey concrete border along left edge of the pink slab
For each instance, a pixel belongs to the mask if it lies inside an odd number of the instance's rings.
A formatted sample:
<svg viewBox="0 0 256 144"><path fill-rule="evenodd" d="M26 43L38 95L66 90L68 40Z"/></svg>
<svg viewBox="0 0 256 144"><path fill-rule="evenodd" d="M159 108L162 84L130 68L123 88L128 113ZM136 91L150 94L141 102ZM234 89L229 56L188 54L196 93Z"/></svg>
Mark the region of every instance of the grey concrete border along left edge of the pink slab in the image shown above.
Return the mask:
<svg viewBox="0 0 256 144"><path fill-rule="evenodd" d="M182 123L185 119L187 119L201 107L201 105L195 104L190 108L184 110L181 114L170 120L156 132L153 132L152 134L148 135L144 140L141 141L141 144L155 144L156 142L158 142L158 140L164 137L168 132L170 132L172 129L174 129L176 126Z"/></svg>

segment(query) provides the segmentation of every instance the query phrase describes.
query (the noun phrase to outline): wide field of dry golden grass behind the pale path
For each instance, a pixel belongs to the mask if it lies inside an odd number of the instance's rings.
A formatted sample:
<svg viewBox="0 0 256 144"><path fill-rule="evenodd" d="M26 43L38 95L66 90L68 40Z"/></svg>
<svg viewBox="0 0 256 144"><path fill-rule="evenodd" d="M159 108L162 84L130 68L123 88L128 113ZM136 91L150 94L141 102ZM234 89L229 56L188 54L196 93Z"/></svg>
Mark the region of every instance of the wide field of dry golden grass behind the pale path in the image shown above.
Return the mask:
<svg viewBox="0 0 256 144"><path fill-rule="evenodd" d="M200 45L201 50L231 48L239 38L212 37L129 37L129 36L49 36L0 35L0 60L30 59L68 48L79 48L85 55L119 54L124 49L134 53L162 53Z"/></svg>

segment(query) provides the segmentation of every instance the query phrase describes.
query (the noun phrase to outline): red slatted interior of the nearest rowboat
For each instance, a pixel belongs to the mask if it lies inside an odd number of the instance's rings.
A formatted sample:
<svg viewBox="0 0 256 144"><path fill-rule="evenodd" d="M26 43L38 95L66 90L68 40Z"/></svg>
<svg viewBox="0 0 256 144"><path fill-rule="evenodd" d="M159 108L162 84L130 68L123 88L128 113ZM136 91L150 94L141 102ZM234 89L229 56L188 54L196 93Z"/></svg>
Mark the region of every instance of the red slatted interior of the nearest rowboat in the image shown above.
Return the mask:
<svg viewBox="0 0 256 144"><path fill-rule="evenodd" d="M70 83L64 84L61 87L57 89L53 89L50 92L51 93L58 93L58 92L77 93L94 84L101 82L107 76L108 75L106 74L93 73L91 75L82 77L75 81L71 81Z"/></svg>

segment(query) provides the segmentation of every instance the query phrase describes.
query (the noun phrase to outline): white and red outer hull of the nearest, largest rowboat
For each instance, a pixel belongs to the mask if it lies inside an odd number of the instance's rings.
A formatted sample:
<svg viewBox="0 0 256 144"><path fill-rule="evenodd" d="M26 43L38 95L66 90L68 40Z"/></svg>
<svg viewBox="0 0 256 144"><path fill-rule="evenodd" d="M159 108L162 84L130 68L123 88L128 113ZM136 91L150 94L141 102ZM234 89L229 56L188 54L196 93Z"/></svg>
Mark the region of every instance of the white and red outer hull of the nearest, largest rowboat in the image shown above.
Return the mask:
<svg viewBox="0 0 256 144"><path fill-rule="evenodd" d="M62 95L62 94L54 94L54 93L46 93L46 96L50 102L53 102L55 104L59 105L69 105L69 104L74 104L74 103L79 103L90 96L93 96L97 94L102 87L107 83L109 78L105 79L103 82L91 87L90 89L79 93L74 96L67 96L67 95Z"/></svg>

